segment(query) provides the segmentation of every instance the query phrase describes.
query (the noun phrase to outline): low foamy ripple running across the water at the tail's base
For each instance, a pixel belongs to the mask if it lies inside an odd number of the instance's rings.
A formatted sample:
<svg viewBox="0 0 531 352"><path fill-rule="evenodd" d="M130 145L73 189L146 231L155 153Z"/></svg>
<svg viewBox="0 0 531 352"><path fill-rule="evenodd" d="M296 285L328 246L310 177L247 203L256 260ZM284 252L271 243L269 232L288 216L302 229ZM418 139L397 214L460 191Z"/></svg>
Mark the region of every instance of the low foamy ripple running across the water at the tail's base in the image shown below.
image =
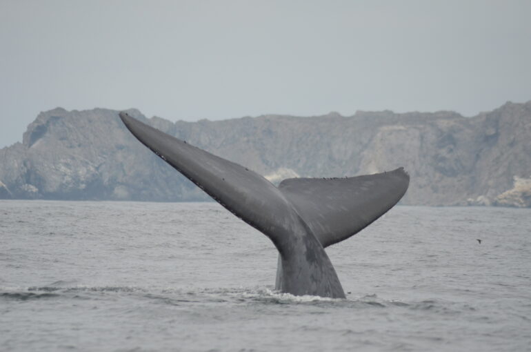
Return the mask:
<svg viewBox="0 0 531 352"><path fill-rule="evenodd" d="M239 288L194 288L141 287L141 286L86 286L72 285L72 282L54 282L46 286L1 287L0 300L41 300L41 299L106 299L108 294L137 296L143 300L152 300L157 304L198 304L237 303L237 304L310 304L352 309L404 308L413 311L434 311L456 314L462 311L474 311L474 307L457 302L443 300L421 300L403 302L388 300L376 294L348 295L346 299L320 297L315 295L296 296L275 291L272 287Z"/></svg>

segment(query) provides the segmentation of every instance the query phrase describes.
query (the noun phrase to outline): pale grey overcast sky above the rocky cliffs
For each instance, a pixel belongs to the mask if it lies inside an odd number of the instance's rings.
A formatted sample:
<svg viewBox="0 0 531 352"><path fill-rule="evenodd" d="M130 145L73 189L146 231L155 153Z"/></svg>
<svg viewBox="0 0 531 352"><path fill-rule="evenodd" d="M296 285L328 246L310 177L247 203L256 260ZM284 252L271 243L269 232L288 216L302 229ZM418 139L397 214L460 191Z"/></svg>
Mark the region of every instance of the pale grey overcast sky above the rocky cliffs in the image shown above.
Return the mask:
<svg viewBox="0 0 531 352"><path fill-rule="evenodd" d="M40 111L177 121L531 99L531 1L0 0L0 148Z"/></svg>

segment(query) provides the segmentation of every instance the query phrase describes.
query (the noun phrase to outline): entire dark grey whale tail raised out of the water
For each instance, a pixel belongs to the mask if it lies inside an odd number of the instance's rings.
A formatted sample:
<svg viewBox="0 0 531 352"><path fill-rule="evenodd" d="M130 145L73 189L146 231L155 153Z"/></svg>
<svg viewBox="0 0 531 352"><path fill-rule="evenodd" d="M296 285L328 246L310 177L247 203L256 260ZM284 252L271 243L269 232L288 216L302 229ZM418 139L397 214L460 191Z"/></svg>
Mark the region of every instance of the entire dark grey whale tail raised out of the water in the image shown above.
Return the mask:
<svg viewBox="0 0 531 352"><path fill-rule="evenodd" d="M231 213L268 236L279 251L276 289L344 298L324 248L374 222L405 194L403 168L357 177L285 179L278 188L239 164L191 146L120 113L142 144Z"/></svg>

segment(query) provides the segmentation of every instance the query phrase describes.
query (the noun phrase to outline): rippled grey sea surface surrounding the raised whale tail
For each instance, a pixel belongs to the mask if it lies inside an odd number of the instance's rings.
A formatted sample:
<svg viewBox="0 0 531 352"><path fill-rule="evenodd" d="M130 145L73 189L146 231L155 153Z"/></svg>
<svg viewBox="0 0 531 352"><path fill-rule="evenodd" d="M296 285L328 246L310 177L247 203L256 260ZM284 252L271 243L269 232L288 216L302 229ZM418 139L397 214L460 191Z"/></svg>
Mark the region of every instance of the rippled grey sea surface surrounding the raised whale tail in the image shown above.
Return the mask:
<svg viewBox="0 0 531 352"><path fill-rule="evenodd" d="M0 350L531 351L531 209L397 206L327 252L346 300L274 291L215 203L0 201Z"/></svg>

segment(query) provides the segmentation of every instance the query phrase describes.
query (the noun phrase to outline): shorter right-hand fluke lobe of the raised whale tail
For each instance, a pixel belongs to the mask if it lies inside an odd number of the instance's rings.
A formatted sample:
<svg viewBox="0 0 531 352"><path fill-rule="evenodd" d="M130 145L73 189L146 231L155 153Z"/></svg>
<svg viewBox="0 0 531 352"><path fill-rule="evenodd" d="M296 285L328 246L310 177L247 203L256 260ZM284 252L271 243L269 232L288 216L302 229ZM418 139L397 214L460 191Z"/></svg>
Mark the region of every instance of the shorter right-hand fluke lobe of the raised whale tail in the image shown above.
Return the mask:
<svg viewBox="0 0 531 352"><path fill-rule="evenodd" d="M363 230L397 204L408 190L403 168L388 173L332 179L285 179L279 189L323 247Z"/></svg>

